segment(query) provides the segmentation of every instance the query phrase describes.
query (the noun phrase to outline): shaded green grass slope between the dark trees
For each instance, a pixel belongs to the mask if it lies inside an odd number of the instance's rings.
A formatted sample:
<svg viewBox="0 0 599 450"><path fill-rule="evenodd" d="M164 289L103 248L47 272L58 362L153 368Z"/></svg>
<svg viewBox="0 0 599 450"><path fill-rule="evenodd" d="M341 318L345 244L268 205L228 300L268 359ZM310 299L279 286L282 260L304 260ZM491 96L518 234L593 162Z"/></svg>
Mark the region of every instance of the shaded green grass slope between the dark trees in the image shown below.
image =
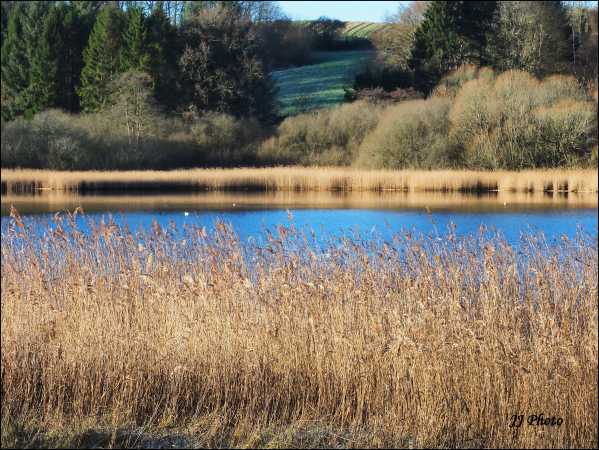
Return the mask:
<svg viewBox="0 0 599 450"><path fill-rule="evenodd" d="M315 52L316 64L273 72L281 114L293 115L343 102L343 88L374 55L373 51Z"/></svg>

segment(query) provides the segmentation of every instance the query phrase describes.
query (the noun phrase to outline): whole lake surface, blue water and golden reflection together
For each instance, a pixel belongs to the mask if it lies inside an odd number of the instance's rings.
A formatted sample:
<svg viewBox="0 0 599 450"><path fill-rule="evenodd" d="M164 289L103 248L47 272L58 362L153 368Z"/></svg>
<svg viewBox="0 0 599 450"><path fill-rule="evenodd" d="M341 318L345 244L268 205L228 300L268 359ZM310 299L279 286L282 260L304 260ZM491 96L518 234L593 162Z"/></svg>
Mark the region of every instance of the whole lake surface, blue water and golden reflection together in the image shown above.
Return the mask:
<svg viewBox="0 0 599 450"><path fill-rule="evenodd" d="M81 207L79 224L108 220L109 215L130 229L148 228L154 221L178 229L193 225L211 229L217 221L230 223L242 241L265 236L266 230L293 224L320 236L387 239L395 233L442 237L450 228L457 235L478 233L481 226L497 231L517 246L523 234L542 233L548 243L577 232L597 235L597 194L580 193L398 193L398 192L199 192L150 195L80 195L66 191L37 191L3 195L2 230L13 205L25 221L42 224L59 211ZM39 220L41 219L41 220ZM37 226L37 225L36 225Z"/></svg>

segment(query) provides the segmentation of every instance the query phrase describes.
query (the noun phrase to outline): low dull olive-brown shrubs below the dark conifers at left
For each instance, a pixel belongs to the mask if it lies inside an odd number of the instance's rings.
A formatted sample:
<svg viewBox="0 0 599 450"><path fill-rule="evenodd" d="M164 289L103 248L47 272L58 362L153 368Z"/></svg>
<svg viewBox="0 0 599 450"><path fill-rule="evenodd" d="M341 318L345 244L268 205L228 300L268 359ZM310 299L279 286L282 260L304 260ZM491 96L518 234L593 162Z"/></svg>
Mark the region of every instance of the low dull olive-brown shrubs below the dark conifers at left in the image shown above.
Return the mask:
<svg viewBox="0 0 599 450"><path fill-rule="evenodd" d="M2 124L2 167L174 169L251 164L261 129L255 120L210 113L186 124L156 116L131 141L110 111L72 116L51 110Z"/></svg>

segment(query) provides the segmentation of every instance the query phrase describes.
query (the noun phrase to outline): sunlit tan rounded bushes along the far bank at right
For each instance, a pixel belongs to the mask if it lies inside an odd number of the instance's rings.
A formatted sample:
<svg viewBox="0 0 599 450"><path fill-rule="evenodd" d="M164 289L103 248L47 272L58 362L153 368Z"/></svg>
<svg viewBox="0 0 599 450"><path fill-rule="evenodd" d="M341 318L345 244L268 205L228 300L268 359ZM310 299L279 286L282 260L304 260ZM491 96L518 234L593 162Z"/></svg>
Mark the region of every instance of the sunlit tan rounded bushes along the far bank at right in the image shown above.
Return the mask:
<svg viewBox="0 0 599 450"><path fill-rule="evenodd" d="M465 65L424 100L400 90L400 103L389 105L379 100L392 93L366 93L369 101L287 118L258 160L373 169L596 167L597 103L592 87L572 76L539 80Z"/></svg>

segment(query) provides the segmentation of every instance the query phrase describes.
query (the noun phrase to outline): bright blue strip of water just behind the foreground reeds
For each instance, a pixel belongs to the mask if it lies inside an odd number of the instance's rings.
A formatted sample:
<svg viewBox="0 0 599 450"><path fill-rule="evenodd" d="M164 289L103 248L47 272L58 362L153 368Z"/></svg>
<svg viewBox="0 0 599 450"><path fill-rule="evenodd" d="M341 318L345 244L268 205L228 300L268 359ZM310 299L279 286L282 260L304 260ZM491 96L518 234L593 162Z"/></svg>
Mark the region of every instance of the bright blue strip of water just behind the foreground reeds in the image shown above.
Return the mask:
<svg viewBox="0 0 599 450"><path fill-rule="evenodd" d="M77 216L77 225L88 232L89 221L108 221L127 225L131 231L149 229L156 221L161 227L179 232L188 226L214 229L217 221L233 226L243 242L261 240L267 231L276 232L279 225L293 225L297 230L318 236L359 235L388 239L394 234L415 233L443 237L451 228L458 236L479 233L481 226L489 232L498 232L509 244L518 246L524 235L542 234L547 243L557 242L563 236L573 238L578 232L593 236L598 233L597 209L542 209L530 211L434 211L428 214L415 210L372 209L290 209L290 210L234 210L234 211L152 211L126 212L109 215L106 212ZM53 214L25 216L36 233L43 234L46 226L53 226ZM2 217L2 233L13 219Z"/></svg>

